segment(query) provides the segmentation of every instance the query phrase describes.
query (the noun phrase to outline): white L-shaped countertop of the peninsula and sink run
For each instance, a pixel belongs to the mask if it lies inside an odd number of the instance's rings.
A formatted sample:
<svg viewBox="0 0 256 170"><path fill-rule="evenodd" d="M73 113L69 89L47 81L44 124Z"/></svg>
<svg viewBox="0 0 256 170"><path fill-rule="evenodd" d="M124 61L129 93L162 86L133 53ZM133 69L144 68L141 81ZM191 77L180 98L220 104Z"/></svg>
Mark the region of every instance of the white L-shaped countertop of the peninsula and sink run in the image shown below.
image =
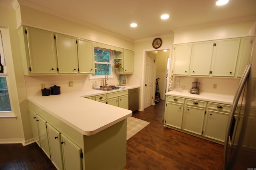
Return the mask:
<svg viewBox="0 0 256 170"><path fill-rule="evenodd" d="M28 100L80 133L89 136L132 116L132 111L85 97L134 89L139 86L125 87L125 89L106 92L92 89L60 95L31 96Z"/></svg>

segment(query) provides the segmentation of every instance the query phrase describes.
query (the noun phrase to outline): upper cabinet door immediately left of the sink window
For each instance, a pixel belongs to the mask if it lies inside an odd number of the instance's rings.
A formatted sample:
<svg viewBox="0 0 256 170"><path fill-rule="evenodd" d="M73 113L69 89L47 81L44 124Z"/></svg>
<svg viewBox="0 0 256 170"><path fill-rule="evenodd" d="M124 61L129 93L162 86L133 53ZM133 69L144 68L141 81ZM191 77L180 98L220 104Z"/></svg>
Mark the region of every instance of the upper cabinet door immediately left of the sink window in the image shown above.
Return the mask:
<svg viewBox="0 0 256 170"><path fill-rule="evenodd" d="M77 39L79 73L94 74L94 48L92 42Z"/></svg>

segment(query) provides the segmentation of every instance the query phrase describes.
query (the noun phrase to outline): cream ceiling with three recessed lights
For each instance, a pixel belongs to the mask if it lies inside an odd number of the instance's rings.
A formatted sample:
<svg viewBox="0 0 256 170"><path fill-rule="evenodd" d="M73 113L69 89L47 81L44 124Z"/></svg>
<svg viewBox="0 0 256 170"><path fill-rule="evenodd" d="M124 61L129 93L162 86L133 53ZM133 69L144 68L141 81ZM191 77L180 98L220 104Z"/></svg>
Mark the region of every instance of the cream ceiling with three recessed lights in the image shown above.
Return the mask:
<svg viewBox="0 0 256 170"><path fill-rule="evenodd" d="M0 0L11 6L13 0ZM180 28L256 20L256 0L18 0L20 4L105 30L128 40L141 40L174 33ZM161 20L162 14L170 18ZM131 28L136 22L138 26Z"/></svg>

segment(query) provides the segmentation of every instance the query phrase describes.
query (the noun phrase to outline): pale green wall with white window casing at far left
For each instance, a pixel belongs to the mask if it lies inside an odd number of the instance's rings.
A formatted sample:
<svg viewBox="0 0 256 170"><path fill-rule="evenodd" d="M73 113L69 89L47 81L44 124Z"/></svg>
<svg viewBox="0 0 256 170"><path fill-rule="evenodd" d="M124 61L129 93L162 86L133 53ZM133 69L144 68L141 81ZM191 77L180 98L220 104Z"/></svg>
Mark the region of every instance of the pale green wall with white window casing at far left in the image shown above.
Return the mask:
<svg viewBox="0 0 256 170"><path fill-rule="evenodd" d="M0 26L8 28L10 34L10 45L6 49L6 66L9 80L10 99L12 111L16 120L0 119L0 143L21 143L24 138L30 139L31 130L26 134L24 131L31 129L28 118L28 103L26 101L26 87L23 76L23 68L20 63L20 44L16 29L16 14L14 10L0 7ZM10 52L7 49L10 49ZM23 124L28 126L23 126Z"/></svg>

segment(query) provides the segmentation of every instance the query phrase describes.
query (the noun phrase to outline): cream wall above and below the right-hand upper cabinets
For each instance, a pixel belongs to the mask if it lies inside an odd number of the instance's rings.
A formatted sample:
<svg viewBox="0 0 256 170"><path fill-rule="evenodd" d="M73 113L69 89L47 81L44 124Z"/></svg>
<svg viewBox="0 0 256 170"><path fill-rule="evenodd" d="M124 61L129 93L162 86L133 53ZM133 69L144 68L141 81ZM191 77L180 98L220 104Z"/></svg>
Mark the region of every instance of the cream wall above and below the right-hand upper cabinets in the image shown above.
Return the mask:
<svg viewBox="0 0 256 170"><path fill-rule="evenodd" d="M176 30L174 44L253 36L255 24L255 20L252 20L208 28ZM172 71L172 68L170 71ZM180 85L186 86L185 90L190 90L194 78L198 78L198 81L200 82L200 92L205 93L234 95L239 84L239 79L236 78L184 76L181 77ZM174 77L174 81L175 79L177 80L178 77ZM217 89L213 89L214 83L217 84Z"/></svg>

